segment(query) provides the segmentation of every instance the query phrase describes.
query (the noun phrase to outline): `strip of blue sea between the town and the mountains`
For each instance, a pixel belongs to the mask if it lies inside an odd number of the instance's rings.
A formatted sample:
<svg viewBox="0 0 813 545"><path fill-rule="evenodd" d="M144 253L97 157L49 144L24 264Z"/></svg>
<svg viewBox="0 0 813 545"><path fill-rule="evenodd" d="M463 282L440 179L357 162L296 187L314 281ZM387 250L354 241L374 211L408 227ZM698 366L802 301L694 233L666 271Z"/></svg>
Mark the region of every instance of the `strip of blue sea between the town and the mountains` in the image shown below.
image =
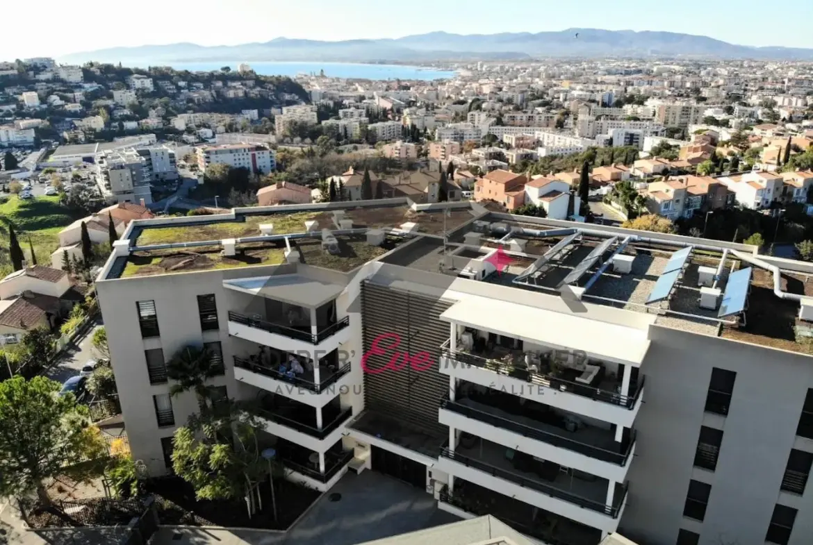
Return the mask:
<svg viewBox="0 0 813 545"><path fill-rule="evenodd" d="M171 63L176 70L213 71L224 66L237 70L239 63ZM359 63L247 63L260 76L324 75L335 78L363 80L441 80L454 78L454 71L436 70L402 64Z"/></svg>

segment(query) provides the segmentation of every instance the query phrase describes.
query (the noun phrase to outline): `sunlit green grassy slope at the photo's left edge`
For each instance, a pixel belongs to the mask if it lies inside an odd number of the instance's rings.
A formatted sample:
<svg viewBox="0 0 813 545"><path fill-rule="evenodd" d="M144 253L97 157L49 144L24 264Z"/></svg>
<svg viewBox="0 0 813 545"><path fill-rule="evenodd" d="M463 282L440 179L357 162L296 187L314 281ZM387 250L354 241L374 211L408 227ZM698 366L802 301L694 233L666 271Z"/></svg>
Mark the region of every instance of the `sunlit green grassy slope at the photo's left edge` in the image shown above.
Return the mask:
<svg viewBox="0 0 813 545"><path fill-rule="evenodd" d="M28 239L34 245L37 263L50 266L50 254L59 248L59 231L74 221L67 208L59 204L59 197L34 197L24 201L11 195L8 201L0 203L0 218L14 225L17 240L24 253L28 254ZM0 244L8 248L8 232L0 231ZM11 272L7 254L0 262L0 275Z"/></svg>

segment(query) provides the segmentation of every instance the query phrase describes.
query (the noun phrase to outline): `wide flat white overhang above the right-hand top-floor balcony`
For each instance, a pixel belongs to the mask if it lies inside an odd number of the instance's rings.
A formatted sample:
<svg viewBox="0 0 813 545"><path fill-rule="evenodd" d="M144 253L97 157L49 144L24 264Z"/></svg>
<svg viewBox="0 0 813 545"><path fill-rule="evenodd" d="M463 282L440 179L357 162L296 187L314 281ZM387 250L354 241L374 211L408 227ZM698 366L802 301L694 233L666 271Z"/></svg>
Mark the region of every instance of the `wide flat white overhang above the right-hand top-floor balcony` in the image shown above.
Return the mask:
<svg viewBox="0 0 813 545"><path fill-rule="evenodd" d="M581 350L589 357L641 365L650 348L646 331L576 314L467 296L441 314L454 322L551 348Z"/></svg>

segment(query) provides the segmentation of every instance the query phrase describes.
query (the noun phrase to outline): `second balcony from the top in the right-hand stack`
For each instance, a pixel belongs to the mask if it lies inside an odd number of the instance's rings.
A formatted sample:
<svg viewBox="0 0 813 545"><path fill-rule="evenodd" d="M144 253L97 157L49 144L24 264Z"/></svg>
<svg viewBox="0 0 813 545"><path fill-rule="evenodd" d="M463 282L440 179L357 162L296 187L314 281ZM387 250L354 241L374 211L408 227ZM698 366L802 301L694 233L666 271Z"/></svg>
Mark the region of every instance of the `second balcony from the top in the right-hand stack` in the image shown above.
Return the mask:
<svg viewBox="0 0 813 545"><path fill-rule="evenodd" d="M456 430L615 482L626 479L635 447L634 431L627 440L616 442L611 430L563 417L533 401L500 408L480 400L445 399L439 420Z"/></svg>

